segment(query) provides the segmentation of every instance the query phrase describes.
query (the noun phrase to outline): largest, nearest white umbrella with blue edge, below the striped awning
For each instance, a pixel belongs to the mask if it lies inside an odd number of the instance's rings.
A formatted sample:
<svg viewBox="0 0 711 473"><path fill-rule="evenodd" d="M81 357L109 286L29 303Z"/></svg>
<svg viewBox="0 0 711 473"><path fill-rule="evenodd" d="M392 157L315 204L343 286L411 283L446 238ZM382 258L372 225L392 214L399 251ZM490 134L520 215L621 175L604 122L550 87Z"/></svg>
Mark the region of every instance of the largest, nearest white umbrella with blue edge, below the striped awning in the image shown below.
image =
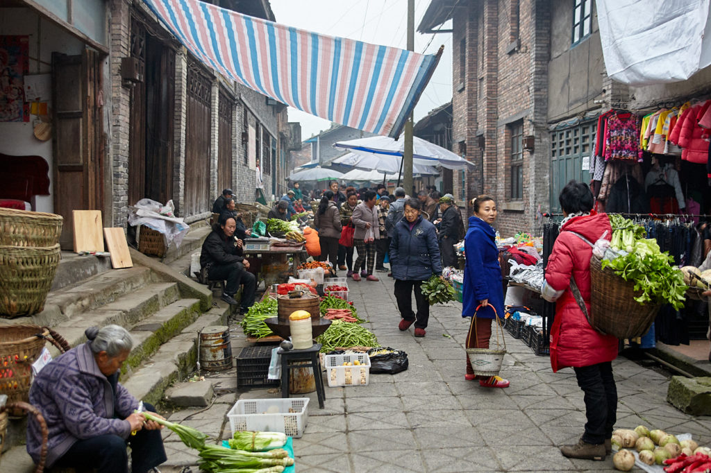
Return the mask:
<svg viewBox="0 0 711 473"><path fill-rule="evenodd" d="M375 153L380 156L400 158L405 151L405 136L400 135L397 140L388 136L370 136L368 138L356 138L355 140L337 141L333 146L363 153ZM422 138L417 138L417 136L412 137L412 158L429 161L431 165L439 164L447 169L463 170L468 165L474 165L448 149ZM400 162L398 161L399 164Z"/></svg>

